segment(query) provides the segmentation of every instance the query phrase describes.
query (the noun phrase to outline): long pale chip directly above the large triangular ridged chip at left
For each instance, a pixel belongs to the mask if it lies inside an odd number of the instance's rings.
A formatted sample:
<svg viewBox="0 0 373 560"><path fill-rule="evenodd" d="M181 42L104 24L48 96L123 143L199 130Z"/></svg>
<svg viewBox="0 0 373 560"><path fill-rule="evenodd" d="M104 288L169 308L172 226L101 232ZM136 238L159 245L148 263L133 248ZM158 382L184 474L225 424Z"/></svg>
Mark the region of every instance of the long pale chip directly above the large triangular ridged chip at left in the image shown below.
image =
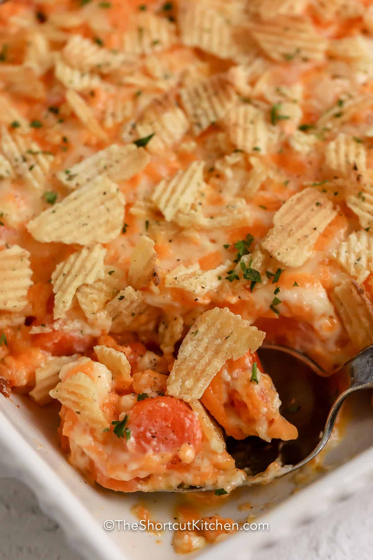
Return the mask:
<svg viewBox="0 0 373 560"><path fill-rule="evenodd" d="M69 169L59 171L57 177L69 189L86 185L98 175L108 177L112 181L127 181L142 171L149 159L144 148L138 148L134 144L110 144Z"/></svg>

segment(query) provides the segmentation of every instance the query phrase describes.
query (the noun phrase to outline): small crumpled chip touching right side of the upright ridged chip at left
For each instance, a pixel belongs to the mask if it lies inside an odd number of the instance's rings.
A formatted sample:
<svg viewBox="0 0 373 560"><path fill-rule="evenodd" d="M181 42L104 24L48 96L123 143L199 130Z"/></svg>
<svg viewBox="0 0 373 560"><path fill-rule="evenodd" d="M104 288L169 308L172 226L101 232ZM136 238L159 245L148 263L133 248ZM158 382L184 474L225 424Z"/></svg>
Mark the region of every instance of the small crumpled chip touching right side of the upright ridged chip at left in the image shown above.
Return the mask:
<svg viewBox="0 0 373 560"><path fill-rule="evenodd" d="M96 280L92 284L79 286L76 292L79 305L90 323L107 322L105 317L100 314L100 311L125 285L122 270L113 265L106 265L103 270L103 278Z"/></svg>

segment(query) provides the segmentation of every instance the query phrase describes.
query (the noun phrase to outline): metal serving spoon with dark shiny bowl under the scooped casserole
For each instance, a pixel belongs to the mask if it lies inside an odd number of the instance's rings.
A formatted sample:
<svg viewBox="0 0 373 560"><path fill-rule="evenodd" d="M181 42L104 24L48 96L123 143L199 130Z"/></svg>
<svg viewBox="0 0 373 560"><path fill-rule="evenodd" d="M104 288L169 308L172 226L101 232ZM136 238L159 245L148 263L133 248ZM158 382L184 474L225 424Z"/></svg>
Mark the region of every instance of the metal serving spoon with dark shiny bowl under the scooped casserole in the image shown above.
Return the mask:
<svg viewBox="0 0 373 560"><path fill-rule="evenodd" d="M285 346L263 344L258 354L280 395L280 412L298 428L298 438L285 442L273 439L268 443L255 436L244 440L227 437L226 450L236 466L252 475L242 486L256 484L254 475L264 472L278 457L282 464L291 465L287 473L314 459L327 443L344 399L355 391L373 389L373 346L329 376L310 358ZM211 488L181 491L204 490Z"/></svg>

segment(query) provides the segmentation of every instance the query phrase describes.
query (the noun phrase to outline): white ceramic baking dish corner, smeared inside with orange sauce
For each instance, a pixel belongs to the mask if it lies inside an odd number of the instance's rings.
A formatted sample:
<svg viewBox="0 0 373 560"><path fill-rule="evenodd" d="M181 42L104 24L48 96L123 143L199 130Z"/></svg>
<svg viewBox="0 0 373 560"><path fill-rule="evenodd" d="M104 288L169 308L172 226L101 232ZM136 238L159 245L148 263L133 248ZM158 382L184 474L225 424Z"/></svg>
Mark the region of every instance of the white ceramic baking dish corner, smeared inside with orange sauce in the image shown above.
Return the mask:
<svg viewBox="0 0 373 560"><path fill-rule="evenodd" d="M202 548L195 556L212 560L234 555L237 559L249 560L258 548L270 547L373 481L370 394L355 395L350 399L351 421L342 445L327 456L330 470L320 472L316 481L296 493L294 475L287 475L267 486L236 491L219 513L235 520L242 520L252 513L259 514L257 521L267 522L269 530L239 531L223 543ZM0 395L2 474L25 482L35 492L41 508L63 527L70 545L89 560L176 558L171 531L165 531L160 537L144 531L105 531L103 521L125 519L135 522L131 507L140 499L145 500L154 521L172 520L175 501L180 499L178 494L123 494L90 486L59 451L56 437L58 409L53 407L40 409L27 397L12 395L11 399L5 399ZM244 514L238 511L238 505L245 502L250 502L253 509ZM211 514L215 512L216 507Z"/></svg>

